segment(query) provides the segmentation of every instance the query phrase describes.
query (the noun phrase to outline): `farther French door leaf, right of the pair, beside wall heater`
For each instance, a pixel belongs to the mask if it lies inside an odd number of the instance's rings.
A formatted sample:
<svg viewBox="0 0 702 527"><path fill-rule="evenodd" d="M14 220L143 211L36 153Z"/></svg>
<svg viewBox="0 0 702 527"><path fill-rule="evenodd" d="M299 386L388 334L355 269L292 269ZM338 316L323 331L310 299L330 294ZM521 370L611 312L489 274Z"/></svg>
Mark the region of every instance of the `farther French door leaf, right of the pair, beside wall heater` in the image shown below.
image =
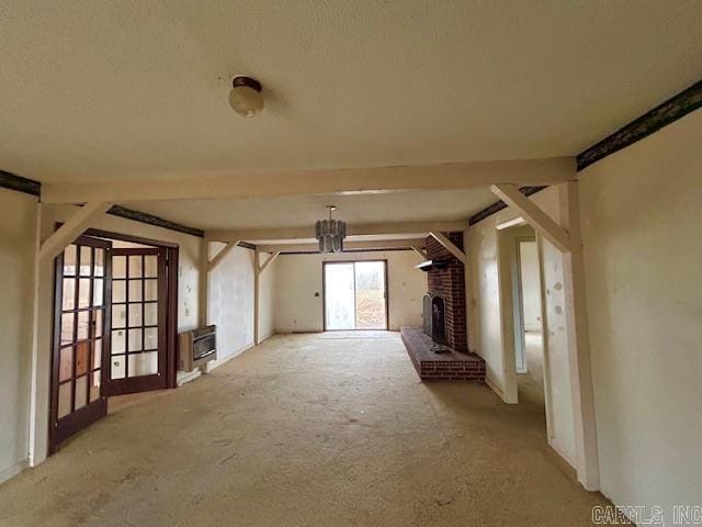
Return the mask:
<svg viewBox="0 0 702 527"><path fill-rule="evenodd" d="M109 394L166 388L166 253L112 251Z"/></svg>

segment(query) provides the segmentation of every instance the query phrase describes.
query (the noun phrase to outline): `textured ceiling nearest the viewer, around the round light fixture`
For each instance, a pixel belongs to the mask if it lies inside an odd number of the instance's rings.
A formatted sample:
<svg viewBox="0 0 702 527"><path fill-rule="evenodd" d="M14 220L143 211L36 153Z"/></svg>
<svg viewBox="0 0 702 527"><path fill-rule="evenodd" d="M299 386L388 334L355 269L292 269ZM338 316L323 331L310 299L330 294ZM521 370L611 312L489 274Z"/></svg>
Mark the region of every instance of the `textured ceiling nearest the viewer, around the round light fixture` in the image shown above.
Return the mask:
<svg viewBox="0 0 702 527"><path fill-rule="evenodd" d="M42 181L535 158L699 80L702 2L4 0L0 48L0 168Z"/></svg>

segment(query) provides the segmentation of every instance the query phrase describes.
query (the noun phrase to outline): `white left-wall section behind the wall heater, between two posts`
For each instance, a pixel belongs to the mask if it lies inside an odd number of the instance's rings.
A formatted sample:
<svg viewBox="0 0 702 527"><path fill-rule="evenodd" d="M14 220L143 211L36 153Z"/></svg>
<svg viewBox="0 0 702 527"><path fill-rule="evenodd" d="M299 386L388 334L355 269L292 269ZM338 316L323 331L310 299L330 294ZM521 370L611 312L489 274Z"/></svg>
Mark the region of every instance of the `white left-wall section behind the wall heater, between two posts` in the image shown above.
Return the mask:
<svg viewBox="0 0 702 527"><path fill-rule="evenodd" d="M212 259L224 244L210 244ZM267 269L270 270L270 269ZM253 345L253 250L235 247L210 273L210 324L217 325L217 361Z"/></svg>

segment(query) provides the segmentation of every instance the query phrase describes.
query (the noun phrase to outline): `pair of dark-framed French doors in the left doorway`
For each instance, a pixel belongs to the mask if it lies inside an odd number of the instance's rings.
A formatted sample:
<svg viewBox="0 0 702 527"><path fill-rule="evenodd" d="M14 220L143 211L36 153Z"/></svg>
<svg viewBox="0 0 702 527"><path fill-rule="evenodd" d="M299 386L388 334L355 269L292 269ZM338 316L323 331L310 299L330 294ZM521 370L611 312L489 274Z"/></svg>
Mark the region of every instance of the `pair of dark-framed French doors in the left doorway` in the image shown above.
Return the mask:
<svg viewBox="0 0 702 527"><path fill-rule="evenodd" d="M176 388L178 246L87 231L55 264L49 453L107 397Z"/></svg>

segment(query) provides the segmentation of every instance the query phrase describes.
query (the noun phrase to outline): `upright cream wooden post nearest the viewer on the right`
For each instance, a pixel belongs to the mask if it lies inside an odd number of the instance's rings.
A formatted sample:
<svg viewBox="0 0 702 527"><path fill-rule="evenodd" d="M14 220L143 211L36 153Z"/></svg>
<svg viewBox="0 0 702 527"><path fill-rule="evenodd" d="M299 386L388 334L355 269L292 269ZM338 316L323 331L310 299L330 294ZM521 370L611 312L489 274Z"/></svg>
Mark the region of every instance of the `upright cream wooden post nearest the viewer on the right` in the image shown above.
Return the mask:
<svg viewBox="0 0 702 527"><path fill-rule="evenodd" d="M566 325L570 393L575 421L575 456L578 481L588 491L600 487L595 422L595 395L590 363L590 340L585 289L585 262L580 231L578 182L568 181L561 189L561 222L570 233L570 251L564 255Z"/></svg>

